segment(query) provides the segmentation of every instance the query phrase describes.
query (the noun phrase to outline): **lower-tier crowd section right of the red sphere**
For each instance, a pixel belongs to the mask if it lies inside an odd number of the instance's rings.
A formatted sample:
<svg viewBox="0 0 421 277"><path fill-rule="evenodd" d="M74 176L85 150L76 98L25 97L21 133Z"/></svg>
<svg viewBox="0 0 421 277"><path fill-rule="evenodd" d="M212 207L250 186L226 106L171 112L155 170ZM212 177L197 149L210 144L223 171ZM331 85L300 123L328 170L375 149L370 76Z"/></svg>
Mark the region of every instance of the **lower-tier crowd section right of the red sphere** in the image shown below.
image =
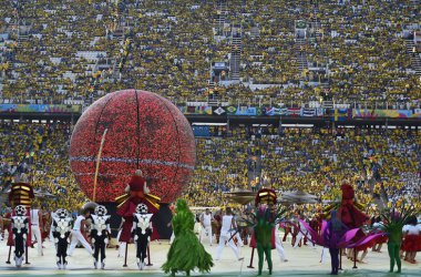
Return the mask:
<svg viewBox="0 0 421 277"><path fill-rule="evenodd" d="M419 133L410 130L233 129L225 138L197 138L198 165L187 195L192 205L227 205L223 192L250 188L249 164L257 161L258 185L280 194L300 189L328 203L350 179L363 204L372 203L382 184L389 202L419 205L420 145ZM372 187L364 182L371 178Z"/></svg>

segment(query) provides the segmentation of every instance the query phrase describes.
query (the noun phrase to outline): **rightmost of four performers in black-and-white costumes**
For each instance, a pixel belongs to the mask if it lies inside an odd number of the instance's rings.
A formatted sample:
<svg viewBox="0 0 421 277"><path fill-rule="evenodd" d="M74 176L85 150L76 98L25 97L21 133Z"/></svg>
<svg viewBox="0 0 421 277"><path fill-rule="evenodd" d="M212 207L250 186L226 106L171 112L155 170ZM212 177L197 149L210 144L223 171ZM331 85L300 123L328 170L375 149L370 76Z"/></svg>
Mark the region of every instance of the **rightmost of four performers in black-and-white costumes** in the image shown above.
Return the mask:
<svg viewBox="0 0 421 277"><path fill-rule="evenodd" d="M146 248L152 235L152 216L143 203L137 205L136 213L133 214L132 235L136 244L137 267L141 270L145 267Z"/></svg>

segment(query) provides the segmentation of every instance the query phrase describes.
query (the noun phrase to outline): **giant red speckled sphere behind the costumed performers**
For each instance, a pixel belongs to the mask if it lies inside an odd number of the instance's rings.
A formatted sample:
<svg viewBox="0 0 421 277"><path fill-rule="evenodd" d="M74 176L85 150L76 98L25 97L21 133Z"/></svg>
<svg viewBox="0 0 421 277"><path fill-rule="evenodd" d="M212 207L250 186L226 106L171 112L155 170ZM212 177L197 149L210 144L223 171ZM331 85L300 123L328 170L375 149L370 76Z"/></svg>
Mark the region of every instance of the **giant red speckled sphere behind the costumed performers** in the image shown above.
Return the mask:
<svg viewBox="0 0 421 277"><path fill-rule="evenodd" d="M103 96L82 114L71 138L70 165L91 199L105 130L96 202L124 194L137 168L162 202L182 194L193 174L196 147L192 127L175 105L152 92L125 90Z"/></svg>

